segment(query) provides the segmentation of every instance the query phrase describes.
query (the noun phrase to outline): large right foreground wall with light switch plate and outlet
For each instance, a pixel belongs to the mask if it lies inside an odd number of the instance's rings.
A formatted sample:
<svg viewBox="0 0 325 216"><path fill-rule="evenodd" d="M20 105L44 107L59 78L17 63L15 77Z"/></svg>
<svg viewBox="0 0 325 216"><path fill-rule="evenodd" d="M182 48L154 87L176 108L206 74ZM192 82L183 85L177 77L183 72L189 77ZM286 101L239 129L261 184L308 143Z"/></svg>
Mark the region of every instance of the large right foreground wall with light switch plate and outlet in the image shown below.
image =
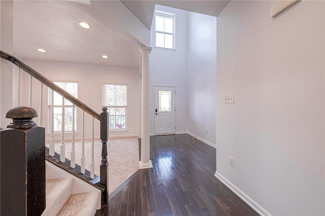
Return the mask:
<svg viewBox="0 0 325 216"><path fill-rule="evenodd" d="M275 20L272 4L217 17L216 175L273 215L324 215L324 2Z"/></svg>

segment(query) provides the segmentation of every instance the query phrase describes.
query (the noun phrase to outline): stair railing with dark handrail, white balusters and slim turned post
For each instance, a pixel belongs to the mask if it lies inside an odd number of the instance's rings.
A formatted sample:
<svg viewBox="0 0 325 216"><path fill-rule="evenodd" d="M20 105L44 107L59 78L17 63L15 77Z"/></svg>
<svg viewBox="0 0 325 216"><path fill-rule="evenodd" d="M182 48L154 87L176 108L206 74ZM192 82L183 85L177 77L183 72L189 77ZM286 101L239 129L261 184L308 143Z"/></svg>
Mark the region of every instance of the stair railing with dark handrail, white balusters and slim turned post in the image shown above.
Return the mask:
<svg viewBox="0 0 325 216"><path fill-rule="evenodd" d="M75 158L75 106L82 110L82 156L81 156L81 173L85 173L85 137L84 137L84 114L85 112L92 116L92 127L91 127L91 163L90 163L90 178L94 178L94 119L100 121L101 125L101 140L102 140L102 160L100 165L100 184L105 188L102 196L102 205L108 203L108 159L107 159L107 140L108 140L108 112L107 107L102 108L102 113L99 114L92 110L82 101L78 100L67 91L63 90L55 83L38 73L35 69L31 68L15 56L8 54L2 50L1 58L6 59L16 66L18 66L18 76L17 76L17 104L20 105L20 70L25 71L29 74L29 96L28 96L28 106L32 106L32 80L33 78L41 82L40 91L40 111L39 111L39 125L43 126L43 85L51 89L51 118L50 118L50 139L49 139L49 155L54 156L54 113L53 113L53 94L54 92L62 96L62 123L61 123L61 145L60 145L60 161L64 162L66 159L66 145L64 143L64 99L69 100L73 104L73 115L72 115L72 151L71 151L71 167L74 168L76 164Z"/></svg>

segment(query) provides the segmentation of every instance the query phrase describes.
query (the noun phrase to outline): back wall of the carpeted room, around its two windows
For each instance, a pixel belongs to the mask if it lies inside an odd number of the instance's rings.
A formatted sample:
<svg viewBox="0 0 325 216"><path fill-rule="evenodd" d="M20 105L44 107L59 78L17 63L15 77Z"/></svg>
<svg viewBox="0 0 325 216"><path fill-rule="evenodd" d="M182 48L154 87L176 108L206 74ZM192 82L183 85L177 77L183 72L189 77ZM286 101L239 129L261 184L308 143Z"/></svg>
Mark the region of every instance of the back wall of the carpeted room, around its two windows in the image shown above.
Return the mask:
<svg viewBox="0 0 325 216"><path fill-rule="evenodd" d="M98 113L102 109L102 84L127 84L127 110L126 130L110 131L110 137L114 136L138 136L139 135L139 68L110 67L103 65L90 65L66 62L25 60L25 62L36 69L43 76L52 81L78 81L78 99L86 103ZM25 81L22 95L22 105L28 104L28 77L21 78ZM33 80L32 106L39 112L40 84ZM47 87L44 87L44 115L47 115ZM81 137L82 112L77 111L76 137ZM35 119L38 122L38 118ZM91 117L85 113L85 136L91 135ZM47 118L44 118L44 126ZM100 123L94 120L94 136L100 136ZM57 134L59 138L60 135ZM69 137L69 135L67 135ZM49 135L47 136L49 138Z"/></svg>

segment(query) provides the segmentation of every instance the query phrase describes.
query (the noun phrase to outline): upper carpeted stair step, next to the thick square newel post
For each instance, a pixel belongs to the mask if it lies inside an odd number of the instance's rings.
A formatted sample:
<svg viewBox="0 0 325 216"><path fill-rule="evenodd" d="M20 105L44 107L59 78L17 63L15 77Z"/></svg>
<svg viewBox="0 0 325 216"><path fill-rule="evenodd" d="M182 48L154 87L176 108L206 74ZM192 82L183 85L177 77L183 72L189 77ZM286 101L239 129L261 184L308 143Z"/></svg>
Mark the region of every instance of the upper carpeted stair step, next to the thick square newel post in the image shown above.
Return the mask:
<svg viewBox="0 0 325 216"><path fill-rule="evenodd" d="M46 181L46 208L43 216L55 216L69 199L73 178L55 178Z"/></svg>

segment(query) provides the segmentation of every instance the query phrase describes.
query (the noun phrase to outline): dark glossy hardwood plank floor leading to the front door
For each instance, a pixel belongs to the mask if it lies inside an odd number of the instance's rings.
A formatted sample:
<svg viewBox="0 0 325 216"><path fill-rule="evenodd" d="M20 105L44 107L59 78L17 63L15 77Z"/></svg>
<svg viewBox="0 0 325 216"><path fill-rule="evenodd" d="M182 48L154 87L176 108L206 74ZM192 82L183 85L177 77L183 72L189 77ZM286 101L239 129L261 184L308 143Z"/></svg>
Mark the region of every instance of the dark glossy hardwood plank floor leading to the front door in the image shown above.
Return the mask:
<svg viewBox="0 0 325 216"><path fill-rule="evenodd" d="M259 215L214 176L216 150L200 140L152 136L150 159L96 215Z"/></svg>

